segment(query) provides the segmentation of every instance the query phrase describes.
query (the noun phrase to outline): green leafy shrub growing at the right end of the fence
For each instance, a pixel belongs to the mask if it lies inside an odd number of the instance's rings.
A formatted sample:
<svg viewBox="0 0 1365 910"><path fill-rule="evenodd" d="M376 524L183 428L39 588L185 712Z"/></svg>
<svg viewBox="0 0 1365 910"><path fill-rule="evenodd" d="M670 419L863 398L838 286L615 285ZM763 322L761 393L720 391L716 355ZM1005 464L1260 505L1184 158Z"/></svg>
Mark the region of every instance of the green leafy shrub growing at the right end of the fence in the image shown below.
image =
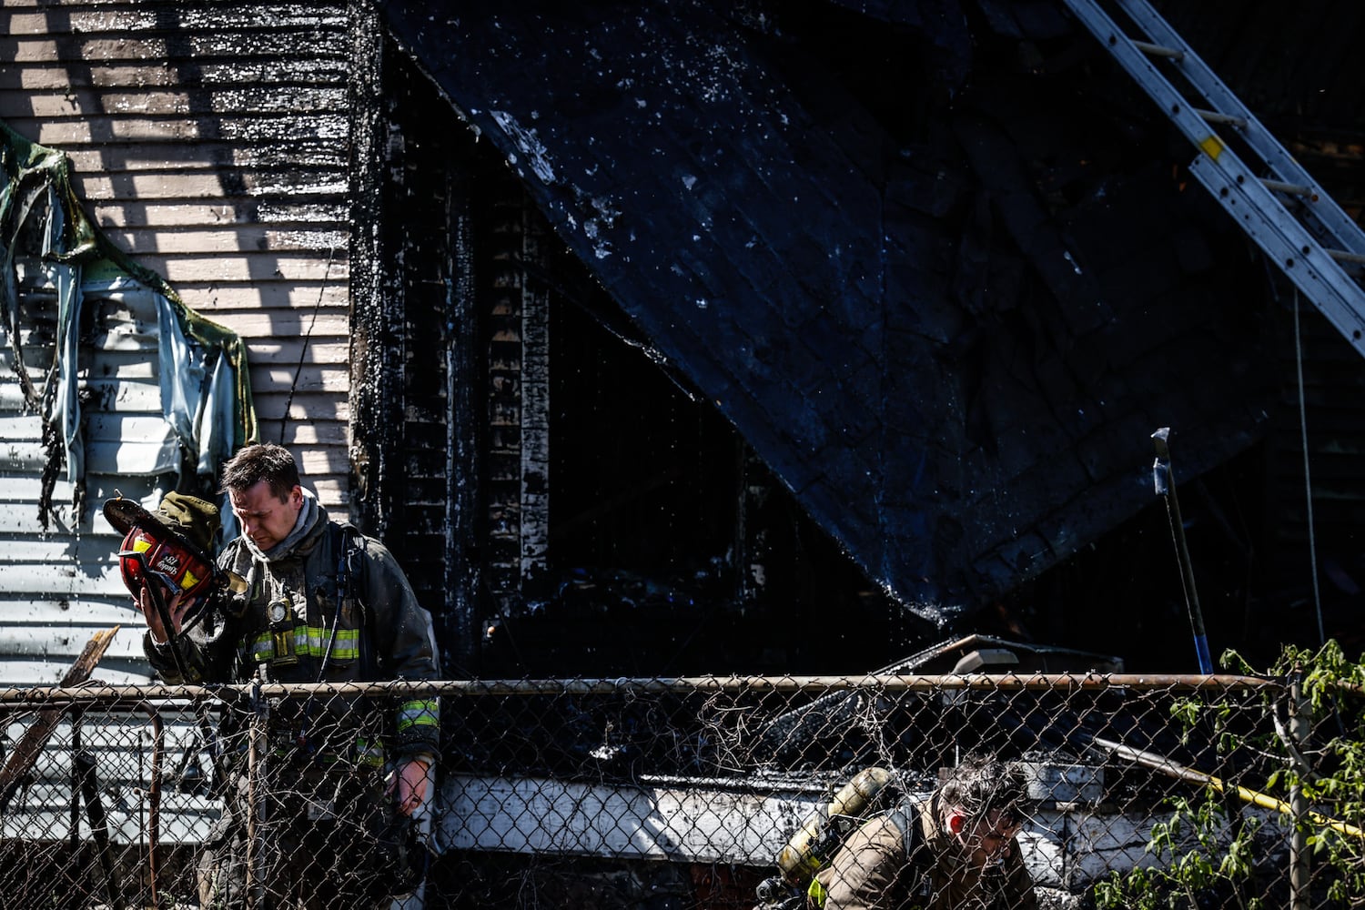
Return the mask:
<svg viewBox="0 0 1365 910"><path fill-rule="evenodd" d="M1314 892L1312 903L1319 906L1325 898L1365 905L1365 658L1353 662L1328 641L1317 651L1286 647L1268 674L1256 674L1234 651L1223 655L1222 664L1241 675L1283 682L1267 689L1263 701L1275 723L1250 723L1246 703L1235 703L1231 690L1215 699L1178 700L1173 720L1186 741L1197 734L1216 744L1219 754L1241 750L1271 763L1275 769L1265 780L1250 786L1267 801L1299 794L1310 806L1293 823L1312 853L1314 887L1325 888L1325 894ZM1269 726L1274 731L1268 733ZM1259 821L1220 786L1208 786L1203 799L1168 799L1170 817L1153 824L1148 836L1148 865L1096 883L1096 905L1260 907L1267 883L1256 875ZM1291 817L1283 821L1290 824ZM1261 872L1263 879L1282 877L1282 890L1287 875L1284 869Z"/></svg>

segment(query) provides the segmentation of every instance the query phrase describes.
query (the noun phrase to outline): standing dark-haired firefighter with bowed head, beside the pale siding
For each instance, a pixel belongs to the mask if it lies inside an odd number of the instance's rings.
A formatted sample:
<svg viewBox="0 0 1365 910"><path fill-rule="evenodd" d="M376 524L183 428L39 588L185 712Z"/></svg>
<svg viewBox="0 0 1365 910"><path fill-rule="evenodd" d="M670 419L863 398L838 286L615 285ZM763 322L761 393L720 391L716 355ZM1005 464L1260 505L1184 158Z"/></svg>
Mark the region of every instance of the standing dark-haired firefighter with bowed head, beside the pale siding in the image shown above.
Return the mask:
<svg viewBox="0 0 1365 910"><path fill-rule="evenodd" d="M242 449L222 490L242 525L216 563L229 583L207 606L182 588L158 610L150 583L135 592L147 658L167 682L438 678L431 617L393 555L329 520L287 449ZM212 503L184 514L188 498L167 499L161 524L179 514L186 531L216 527ZM198 862L202 907L388 906L420 883L427 853L412 813L440 756L435 697L324 688L228 704L220 733L225 809Z"/></svg>

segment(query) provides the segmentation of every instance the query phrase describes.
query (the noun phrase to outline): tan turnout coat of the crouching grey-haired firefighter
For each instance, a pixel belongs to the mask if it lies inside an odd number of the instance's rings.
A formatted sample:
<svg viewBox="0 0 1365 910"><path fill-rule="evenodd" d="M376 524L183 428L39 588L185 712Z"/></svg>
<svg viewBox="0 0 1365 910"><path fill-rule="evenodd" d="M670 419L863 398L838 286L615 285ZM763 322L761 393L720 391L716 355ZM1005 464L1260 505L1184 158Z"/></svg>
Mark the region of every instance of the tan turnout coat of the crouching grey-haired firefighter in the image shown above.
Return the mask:
<svg viewBox="0 0 1365 910"><path fill-rule="evenodd" d="M1018 843L998 866L973 869L936 817L930 801L915 801L850 834L815 875L824 910L1037 910Z"/></svg>

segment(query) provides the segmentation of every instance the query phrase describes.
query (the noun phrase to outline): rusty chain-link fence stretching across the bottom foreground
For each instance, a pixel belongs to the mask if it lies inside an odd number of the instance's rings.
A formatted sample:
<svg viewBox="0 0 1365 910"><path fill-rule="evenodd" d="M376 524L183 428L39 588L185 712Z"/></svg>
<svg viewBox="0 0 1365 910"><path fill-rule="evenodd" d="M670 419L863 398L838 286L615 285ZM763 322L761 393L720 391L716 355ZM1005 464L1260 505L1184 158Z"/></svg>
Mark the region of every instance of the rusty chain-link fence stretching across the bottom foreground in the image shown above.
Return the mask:
<svg viewBox="0 0 1365 910"><path fill-rule="evenodd" d="M444 754L410 823L375 719L431 693ZM1025 772L1017 843L1046 907L1355 905L1365 794L1293 783L1342 764L1358 699L1294 696L1112 674L4 690L0 894L748 910L803 884L784 849L838 846L826 816L859 772L886 787L852 814L987 752Z"/></svg>

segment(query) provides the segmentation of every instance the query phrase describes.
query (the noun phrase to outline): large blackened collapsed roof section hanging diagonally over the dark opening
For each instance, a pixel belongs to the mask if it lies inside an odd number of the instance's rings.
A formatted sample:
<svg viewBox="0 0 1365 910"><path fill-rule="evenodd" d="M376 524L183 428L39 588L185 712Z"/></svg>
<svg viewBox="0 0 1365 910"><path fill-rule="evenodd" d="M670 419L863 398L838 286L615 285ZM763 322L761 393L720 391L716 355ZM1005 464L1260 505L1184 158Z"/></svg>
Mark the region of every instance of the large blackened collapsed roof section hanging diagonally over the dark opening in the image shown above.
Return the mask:
<svg viewBox="0 0 1365 910"><path fill-rule="evenodd" d="M1151 502L1159 426L1188 476L1250 442L1259 267L1147 108L882 5L384 15L651 342L938 618Z"/></svg>

